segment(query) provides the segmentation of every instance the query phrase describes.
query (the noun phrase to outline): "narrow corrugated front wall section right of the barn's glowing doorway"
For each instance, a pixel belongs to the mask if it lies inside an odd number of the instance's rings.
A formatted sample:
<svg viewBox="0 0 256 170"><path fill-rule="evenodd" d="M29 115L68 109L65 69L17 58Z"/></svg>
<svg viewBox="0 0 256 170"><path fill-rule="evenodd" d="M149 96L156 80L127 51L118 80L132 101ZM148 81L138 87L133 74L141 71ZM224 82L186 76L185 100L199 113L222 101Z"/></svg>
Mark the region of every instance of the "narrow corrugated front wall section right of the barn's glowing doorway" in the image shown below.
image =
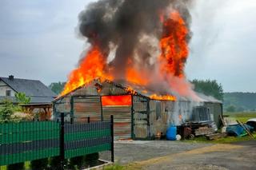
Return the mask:
<svg viewBox="0 0 256 170"><path fill-rule="evenodd" d="M133 96L134 138L149 137L149 105L146 97Z"/></svg>

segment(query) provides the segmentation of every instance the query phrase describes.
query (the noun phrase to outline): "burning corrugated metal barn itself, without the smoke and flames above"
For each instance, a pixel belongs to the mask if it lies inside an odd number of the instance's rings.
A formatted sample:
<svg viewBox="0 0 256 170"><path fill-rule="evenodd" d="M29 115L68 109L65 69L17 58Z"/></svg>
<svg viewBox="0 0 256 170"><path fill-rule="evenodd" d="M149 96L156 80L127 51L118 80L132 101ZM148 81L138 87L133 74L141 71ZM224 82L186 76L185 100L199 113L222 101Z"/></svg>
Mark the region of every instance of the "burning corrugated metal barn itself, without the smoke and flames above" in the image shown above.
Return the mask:
<svg viewBox="0 0 256 170"><path fill-rule="evenodd" d="M113 81L94 80L58 97L54 101L54 117L66 114L66 120L103 121L114 115L116 139L151 139L166 133L173 125L185 121L215 121L222 115L222 103L214 99L197 102L186 98L154 99L152 92L141 86L118 84ZM193 113L196 108L208 109L205 113Z"/></svg>

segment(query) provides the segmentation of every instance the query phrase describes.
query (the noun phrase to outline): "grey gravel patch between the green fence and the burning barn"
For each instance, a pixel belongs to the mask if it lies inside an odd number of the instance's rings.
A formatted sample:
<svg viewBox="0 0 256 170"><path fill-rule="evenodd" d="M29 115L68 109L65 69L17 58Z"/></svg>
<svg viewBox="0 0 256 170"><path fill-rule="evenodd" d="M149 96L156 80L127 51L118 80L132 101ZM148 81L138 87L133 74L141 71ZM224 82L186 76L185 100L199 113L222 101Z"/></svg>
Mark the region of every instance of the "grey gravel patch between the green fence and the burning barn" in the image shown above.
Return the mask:
<svg viewBox="0 0 256 170"><path fill-rule="evenodd" d="M120 140L114 142L114 159L120 164L127 164L210 145L170 140Z"/></svg>

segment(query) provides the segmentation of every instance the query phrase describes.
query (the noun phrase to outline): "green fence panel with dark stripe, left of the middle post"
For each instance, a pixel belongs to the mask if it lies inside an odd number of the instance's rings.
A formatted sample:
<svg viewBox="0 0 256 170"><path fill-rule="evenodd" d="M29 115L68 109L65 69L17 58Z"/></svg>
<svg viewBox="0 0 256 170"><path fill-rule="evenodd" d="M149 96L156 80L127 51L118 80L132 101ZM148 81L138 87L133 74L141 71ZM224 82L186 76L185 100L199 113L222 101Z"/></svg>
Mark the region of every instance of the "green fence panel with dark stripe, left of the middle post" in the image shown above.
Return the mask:
<svg viewBox="0 0 256 170"><path fill-rule="evenodd" d="M59 130L53 121L0 124L0 165L58 156Z"/></svg>

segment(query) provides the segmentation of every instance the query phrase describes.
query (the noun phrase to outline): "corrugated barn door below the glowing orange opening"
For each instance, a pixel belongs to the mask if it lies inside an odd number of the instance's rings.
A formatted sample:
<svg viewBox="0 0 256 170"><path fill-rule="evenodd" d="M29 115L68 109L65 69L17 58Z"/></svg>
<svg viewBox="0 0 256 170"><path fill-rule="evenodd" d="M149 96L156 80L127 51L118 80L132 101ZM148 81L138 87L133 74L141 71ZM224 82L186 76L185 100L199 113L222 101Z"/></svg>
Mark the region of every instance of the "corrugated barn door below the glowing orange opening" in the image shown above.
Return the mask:
<svg viewBox="0 0 256 170"><path fill-rule="evenodd" d="M103 106L102 113L104 120L109 120L110 115L114 116L114 138L131 138L131 106L112 105Z"/></svg>

